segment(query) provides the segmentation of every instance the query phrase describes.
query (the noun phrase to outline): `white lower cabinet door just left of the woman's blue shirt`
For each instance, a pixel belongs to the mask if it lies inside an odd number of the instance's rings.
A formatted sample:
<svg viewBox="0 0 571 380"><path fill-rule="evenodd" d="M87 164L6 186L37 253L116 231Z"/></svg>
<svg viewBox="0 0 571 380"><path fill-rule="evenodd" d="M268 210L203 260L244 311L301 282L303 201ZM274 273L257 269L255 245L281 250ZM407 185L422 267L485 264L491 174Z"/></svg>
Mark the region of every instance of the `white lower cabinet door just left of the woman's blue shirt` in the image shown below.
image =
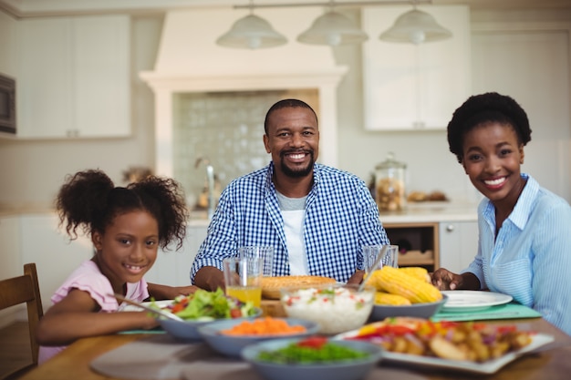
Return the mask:
<svg viewBox="0 0 571 380"><path fill-rule="evenodd" d="M440 266L458 273L478 252L477 221L441 221L439 223Z"/></svg>

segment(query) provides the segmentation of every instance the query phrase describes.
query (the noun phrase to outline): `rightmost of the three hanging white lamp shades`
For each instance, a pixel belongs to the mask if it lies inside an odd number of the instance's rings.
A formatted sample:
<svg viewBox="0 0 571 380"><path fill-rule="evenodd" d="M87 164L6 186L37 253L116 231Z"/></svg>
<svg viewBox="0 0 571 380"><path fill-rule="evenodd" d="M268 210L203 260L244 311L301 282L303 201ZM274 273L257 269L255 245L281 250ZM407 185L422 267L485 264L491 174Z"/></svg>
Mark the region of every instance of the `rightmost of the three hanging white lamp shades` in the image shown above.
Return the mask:
<svg viewBox="0 0 571 380"><path fill-rule="evenodd" d="M440 26L432 15L418 9L412 9L400 15L395 24L383 32L379 38L388 42L410 42L418 45L451 36L452 32Z"/></svg>

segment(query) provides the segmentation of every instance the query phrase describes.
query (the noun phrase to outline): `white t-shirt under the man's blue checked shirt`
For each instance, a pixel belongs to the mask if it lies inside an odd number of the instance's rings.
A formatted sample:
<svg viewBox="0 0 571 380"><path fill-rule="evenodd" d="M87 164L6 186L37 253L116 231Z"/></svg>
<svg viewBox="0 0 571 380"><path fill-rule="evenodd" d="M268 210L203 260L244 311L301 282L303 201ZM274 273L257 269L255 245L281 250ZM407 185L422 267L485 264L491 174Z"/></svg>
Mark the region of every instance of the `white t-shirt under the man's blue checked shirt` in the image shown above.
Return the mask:
<svg viewBox="0 0 571 380"><path fill-rule="evenodd" d="M306 198L287 198L277 192L282 218L284 218L285 244L289 257L289 273L306 275L307 254L302 231L306 216Z"/></svg>

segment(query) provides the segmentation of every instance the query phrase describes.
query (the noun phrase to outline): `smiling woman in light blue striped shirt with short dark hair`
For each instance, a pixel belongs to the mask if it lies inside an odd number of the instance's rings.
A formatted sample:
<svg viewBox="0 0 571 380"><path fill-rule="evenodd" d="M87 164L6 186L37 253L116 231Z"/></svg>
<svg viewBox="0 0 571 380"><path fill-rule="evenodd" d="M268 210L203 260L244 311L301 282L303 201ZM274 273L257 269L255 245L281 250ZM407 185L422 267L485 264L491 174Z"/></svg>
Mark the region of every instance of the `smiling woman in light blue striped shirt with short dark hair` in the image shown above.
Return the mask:
<svg viewBox="0 0 571 380"><path fill-rule="evenodd" d="M450 150L485 197L478 253L461 274L438 269L432 283L512 295L571 334L571 207L520 172L530 140L527 115L513 98L486 93L456 109Z"/></svg>

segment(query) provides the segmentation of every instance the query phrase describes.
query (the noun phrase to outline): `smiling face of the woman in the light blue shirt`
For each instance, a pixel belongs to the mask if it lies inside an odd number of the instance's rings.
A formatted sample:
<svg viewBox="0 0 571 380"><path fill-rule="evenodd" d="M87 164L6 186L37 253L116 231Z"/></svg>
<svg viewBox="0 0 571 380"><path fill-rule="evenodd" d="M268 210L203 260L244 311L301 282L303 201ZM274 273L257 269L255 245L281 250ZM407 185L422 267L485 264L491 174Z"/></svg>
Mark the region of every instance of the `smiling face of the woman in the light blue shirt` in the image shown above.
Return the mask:
<svg viewBox="0 0 571 380"><path fill-rule="evenodd" d="M462 150L462 166L473 186L494 204L507 202L513 208L524 187L524 145L514 128L498 122L476 126L464 137Z"/></svg>

